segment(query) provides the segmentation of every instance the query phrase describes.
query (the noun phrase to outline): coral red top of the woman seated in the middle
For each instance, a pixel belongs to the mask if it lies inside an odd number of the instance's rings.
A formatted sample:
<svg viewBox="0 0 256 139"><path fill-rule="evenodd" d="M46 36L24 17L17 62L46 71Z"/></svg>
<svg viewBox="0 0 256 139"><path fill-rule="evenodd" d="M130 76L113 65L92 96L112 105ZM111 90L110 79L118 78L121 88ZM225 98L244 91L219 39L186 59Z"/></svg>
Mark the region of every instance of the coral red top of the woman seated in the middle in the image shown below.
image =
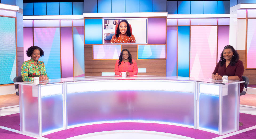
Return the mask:
<svg viewBox="0 0 256 139"><path fill-rule="evenodd" d="M130 75L137 75L138 67L135 60L132 59L133 64L130 65L129 62L121 62L121 65L118 66L119 60L115 62L115 75L120 75L121 72L128 71Z"/></svg>

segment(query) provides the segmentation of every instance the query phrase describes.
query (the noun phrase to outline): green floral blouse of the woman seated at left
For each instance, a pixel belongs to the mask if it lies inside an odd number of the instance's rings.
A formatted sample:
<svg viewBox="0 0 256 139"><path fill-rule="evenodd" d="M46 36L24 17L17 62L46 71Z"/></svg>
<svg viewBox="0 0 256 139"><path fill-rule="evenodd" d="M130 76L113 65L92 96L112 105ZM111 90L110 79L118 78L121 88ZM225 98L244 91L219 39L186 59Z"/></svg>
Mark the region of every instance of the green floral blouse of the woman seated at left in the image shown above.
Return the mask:
<svg viewBox="0 0 256 139"><path fill-rule="evenodd" d="M35 63L35 61L31 58L22 64L21 76L23 81L32 81L33 77L39 77L42 75L47 76L45 64L43 64L42 61L37 61L37 63Z"/></svg>

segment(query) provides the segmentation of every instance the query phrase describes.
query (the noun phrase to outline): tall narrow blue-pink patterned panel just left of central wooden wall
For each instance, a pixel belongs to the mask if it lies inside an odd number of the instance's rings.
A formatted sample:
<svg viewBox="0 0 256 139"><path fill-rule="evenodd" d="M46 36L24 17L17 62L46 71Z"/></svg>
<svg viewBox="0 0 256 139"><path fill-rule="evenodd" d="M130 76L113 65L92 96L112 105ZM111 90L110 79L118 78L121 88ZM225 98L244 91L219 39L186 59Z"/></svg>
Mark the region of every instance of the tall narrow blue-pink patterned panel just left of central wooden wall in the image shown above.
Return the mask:
<svg viewBox="0 0 256 139"><path fill-rule="evenodd" d="M74 76L85 76L85 45L84 45L84 28L73 28L74 38Z"/></svg>

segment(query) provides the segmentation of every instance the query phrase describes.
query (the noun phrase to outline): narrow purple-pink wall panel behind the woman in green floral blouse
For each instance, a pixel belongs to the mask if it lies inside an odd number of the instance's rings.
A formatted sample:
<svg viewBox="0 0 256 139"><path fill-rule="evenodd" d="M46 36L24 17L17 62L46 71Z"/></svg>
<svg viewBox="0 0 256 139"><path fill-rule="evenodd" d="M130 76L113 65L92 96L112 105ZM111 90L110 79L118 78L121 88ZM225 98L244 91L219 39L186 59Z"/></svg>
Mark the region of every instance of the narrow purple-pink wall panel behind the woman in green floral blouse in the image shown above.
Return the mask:
<svg viewBox="0 0 256 139"><path fill-rule="evenodd" d="M27 61L30 59L30 57L27 57L26 50L33 46L33 30L32 28L23 28L23 53L24 53L24 61Z"/></svg>

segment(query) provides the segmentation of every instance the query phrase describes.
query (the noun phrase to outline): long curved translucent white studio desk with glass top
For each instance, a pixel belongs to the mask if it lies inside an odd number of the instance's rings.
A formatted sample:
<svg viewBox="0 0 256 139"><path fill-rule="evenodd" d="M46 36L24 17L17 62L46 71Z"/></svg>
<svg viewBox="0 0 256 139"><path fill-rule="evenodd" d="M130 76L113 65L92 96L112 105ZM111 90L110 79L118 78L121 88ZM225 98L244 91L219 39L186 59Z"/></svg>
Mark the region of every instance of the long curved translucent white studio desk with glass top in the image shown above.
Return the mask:
<svg viewBox="0 0 256 139"><path fill-rule="evenodd" d="M146 122L230 133L238 130L241 82L166 76L18 82L21 132L41 137L83 125ZM228 121L226 105L233 112Z"/></svg>

